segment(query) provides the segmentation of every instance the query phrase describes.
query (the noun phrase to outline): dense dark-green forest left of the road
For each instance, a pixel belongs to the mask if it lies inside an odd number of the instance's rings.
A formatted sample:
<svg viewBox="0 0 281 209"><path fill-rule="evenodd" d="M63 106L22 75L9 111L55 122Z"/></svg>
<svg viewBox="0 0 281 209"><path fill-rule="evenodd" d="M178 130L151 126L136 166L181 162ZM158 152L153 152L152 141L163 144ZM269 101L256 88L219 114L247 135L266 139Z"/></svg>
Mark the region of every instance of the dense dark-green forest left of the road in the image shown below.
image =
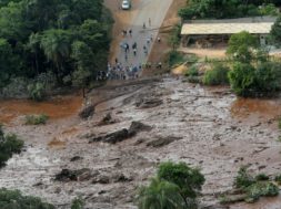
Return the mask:
<svg viewBox="0 0 281 209"><path fill-rule="evenodd" d="M103 0L1 0L0 88L16 77L30 96L46 87L84 86L104 70L112 19ZM39 92L39 95L38 95Z"/></svg>

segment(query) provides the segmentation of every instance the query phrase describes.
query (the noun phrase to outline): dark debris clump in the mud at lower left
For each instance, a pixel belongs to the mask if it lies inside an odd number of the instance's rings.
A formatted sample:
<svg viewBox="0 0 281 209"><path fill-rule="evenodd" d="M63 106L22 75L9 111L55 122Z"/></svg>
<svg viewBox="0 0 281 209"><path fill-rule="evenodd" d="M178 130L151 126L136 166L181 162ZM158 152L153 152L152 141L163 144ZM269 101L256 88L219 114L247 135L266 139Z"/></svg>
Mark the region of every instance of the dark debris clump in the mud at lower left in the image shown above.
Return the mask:
<svg viewBox="0 0 281 209"><path fill-rule="evenodd" d="M88 168L82 168L79 170L62 169L56 175L54 180L59 181L83 181L91 178L91 171Z"/></svg>

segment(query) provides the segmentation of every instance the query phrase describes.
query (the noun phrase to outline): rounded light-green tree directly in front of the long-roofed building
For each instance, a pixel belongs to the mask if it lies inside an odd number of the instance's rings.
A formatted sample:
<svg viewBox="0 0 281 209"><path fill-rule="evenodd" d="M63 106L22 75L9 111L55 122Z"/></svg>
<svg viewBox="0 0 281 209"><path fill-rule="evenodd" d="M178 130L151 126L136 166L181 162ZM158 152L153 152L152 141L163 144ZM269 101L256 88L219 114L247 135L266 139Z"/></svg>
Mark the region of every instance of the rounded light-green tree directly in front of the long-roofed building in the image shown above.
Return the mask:
<svg viewBox="0 0 281 209"><path fill-rule="evenodd" d="M254 50L258 48L258 38L243 31L231 35L228 43L227 54L237 61L250 63L254 58Z"/></svg>

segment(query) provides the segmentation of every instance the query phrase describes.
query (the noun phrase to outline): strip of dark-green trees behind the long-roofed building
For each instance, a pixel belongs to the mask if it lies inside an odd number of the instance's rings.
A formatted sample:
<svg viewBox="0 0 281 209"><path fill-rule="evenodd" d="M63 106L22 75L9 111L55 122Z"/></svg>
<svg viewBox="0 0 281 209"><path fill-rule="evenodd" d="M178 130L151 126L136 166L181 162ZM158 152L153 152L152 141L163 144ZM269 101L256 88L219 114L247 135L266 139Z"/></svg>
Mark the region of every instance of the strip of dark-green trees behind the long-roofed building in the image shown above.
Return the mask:
<svg viewBox="0 0 281 209"><path fill-rule="evenodd" d="M179 11L184 20L193 18L241 18L254 15L275 15L280 6L278 0L189 0Z"/></svg>

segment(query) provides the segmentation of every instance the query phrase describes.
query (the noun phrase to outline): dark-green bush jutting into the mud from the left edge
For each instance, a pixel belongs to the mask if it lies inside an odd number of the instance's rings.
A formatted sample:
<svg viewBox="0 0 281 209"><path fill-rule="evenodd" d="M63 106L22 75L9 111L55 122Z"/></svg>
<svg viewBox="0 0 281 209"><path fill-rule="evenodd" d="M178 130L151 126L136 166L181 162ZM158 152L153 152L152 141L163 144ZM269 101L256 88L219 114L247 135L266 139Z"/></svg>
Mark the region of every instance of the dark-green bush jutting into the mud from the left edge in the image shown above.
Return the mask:
<svg viewBox="0 0 281 209"><path fill-rule="evenodd" d="M0 126L0 167L12 157L12 154L19 154L23 147L23 140L18 139L16 135L4 135Z"/></svg>

